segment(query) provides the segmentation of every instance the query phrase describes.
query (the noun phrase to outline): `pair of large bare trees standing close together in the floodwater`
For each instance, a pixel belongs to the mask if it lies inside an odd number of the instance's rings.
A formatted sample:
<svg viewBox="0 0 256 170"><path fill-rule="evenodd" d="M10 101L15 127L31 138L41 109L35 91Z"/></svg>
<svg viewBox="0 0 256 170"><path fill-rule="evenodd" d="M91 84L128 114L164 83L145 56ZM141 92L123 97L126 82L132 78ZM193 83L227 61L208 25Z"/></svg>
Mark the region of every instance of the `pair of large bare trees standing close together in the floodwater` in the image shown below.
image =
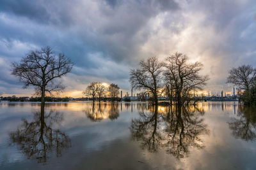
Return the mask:
<svg viewBox="0 0 256 170"><path fill-rule="evenodd" d="M165 94L170 103L189 103L193 92L202 90L209 80L208 75L200 75L203 65L200 62L189 62L183 53L176 52L166 57L164 62L157 57L141 60L139 69L132 69L130 82L133 89L145 90L150 93L154 103Z"/></svg>

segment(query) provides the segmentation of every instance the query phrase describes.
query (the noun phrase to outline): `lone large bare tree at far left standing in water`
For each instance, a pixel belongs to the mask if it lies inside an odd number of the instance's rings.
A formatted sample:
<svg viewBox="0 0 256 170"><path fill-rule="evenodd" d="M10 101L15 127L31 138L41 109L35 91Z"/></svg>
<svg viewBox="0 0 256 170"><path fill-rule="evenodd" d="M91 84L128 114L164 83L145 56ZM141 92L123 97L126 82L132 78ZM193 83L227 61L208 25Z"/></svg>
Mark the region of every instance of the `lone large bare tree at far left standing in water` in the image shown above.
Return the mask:
<svg viewBox="0 0 256 170"><path fill-rule="evenodd" d="M42 107L45 104L45 93L52 95L52 92L61 92L64 87L61 78L69 73L73 63L63 53L55 55L50 46L40 51L29 52L23 57L20 63L12 63L12 74L19 77L24 88L29 85L35 86L36 94L40 94Z"/></svg>

